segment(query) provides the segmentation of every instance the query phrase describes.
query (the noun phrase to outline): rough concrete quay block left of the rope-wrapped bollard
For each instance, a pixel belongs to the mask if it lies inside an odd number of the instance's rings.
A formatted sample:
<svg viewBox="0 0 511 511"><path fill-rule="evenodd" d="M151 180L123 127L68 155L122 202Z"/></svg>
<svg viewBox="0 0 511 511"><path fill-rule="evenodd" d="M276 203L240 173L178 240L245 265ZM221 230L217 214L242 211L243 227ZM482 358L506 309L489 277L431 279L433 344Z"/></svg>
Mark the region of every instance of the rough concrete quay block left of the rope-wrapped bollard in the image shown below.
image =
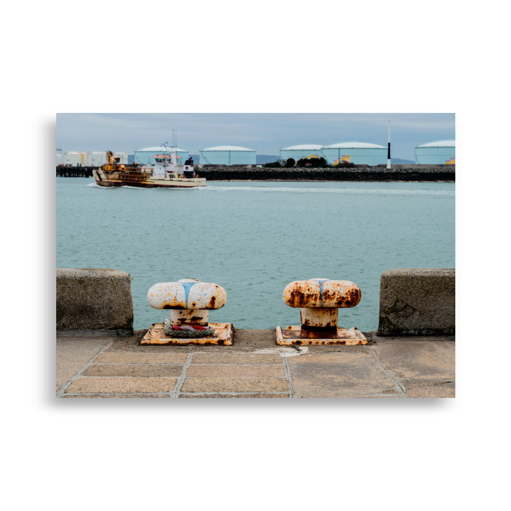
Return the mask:
<svg viewBox="0 0 511 511"><path fill-rule="evenodd" d="M57 336L133 335L129 273L57 268Z"/></svg>

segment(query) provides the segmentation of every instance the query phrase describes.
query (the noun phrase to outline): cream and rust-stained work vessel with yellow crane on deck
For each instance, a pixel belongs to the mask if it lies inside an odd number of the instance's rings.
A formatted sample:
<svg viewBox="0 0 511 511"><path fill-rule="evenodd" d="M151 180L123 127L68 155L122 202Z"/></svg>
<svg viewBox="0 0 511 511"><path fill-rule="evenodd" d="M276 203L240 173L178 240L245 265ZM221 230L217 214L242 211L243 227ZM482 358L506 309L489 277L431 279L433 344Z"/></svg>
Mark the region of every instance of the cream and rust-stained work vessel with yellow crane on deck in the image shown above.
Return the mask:
<svg viewBox="0 0 511 511"><path fill-rule="evenodd" d="M93 175L100 187L205 187L206 180L195 173L193 159L186 160L184 165L177 165L175 152L156 154L154 158L156 163L152 165L122 165L119 164L120 158L115 158L108 151L106 164L95 170Z"/></svg>

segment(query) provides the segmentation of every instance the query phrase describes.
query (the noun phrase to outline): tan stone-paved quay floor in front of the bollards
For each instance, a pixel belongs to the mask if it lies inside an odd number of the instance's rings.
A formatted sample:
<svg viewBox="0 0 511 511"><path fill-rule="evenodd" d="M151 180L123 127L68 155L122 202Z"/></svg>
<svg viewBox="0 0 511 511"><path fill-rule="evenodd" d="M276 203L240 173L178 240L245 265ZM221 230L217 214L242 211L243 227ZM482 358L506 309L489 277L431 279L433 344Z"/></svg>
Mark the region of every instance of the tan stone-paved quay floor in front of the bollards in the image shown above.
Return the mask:
<svg viewBox="0 0 511 511"><path fill-rule="evenodd" d="M128 337L57 337L57 398L454 398L455 341L277 346L273 330L232 346L144 346Z"/></svg>

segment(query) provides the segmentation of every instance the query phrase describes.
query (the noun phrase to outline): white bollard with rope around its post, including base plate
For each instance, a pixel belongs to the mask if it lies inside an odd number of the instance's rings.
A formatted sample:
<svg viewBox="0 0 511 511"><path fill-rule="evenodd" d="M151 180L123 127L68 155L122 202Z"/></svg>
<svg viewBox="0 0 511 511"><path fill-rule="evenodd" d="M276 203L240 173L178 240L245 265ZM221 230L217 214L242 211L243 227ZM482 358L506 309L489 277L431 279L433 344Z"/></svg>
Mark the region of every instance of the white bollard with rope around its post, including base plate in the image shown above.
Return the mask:
<svg viewBox="0 0 511 511"><path fill-rule="evenodd" d="M231 323L210 323L209 311L221 309L226 301L225 289L218 284L182 278L177 282L160 282L147 292L154 309L170 309L170 318L154 323L141 344L232 344Z"/></svg>

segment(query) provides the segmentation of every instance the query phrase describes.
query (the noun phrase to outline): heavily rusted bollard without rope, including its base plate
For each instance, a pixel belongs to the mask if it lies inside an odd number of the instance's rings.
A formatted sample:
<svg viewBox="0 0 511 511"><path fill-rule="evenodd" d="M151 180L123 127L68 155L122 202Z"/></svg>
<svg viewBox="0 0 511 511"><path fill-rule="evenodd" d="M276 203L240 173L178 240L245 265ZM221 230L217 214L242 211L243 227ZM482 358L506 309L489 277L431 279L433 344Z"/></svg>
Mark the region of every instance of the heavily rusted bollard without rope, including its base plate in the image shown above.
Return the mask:
<svg viewBox="0 0 511 511"><path fill-rule="evenodd" d="M350 281L311 278L295 281L284 289L282 298L288 307L300 309L301 325L275 330L277 344L368 344L356 327L338 327L338 310L355 307L362 293Z"/></svg>

